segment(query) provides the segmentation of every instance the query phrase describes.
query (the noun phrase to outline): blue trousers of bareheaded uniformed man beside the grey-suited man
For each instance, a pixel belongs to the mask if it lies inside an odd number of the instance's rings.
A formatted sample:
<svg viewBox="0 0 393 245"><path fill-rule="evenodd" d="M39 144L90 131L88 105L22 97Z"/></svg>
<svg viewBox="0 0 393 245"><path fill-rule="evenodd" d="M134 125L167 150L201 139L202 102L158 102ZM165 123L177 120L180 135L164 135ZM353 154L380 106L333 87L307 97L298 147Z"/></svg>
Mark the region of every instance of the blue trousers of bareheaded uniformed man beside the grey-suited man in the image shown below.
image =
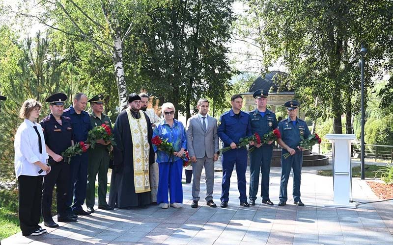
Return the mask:
<svg viewBox="0 0 393 245"><path fill-rule="evenodd" d="M242 202L247 201L246 195L246 169L247 169L247 149L236 148L230 149L223 153L221 157L223 164L223 182L221 184L221 201L229 200L230 177L233 167L236 163L237 189L239 190L239 199Z"/></svg>

